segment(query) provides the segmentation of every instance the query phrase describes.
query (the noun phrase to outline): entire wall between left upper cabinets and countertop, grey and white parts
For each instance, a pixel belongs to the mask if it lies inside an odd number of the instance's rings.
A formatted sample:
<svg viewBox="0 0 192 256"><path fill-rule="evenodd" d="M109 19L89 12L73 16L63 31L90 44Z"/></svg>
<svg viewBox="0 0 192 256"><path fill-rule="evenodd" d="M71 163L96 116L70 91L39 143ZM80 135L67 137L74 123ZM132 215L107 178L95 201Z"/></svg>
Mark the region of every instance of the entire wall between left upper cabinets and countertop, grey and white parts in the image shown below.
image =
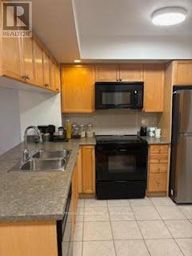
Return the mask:
<svg viewBox="0 0 192 256"><path fill-rule="evenodd" d="M61 126L60 94L0 87L0 155L24 140L29 125Z"/></svg>

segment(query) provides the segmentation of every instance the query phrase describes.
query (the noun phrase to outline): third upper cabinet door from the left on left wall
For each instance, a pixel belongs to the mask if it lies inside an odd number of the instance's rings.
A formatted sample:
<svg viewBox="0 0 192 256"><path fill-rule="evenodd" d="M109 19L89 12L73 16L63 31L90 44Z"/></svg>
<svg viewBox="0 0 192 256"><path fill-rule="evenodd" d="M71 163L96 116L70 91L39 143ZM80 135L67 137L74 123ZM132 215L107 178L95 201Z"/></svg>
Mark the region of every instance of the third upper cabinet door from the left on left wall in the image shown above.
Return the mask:
<svg viewBox="0 0 192 256"><path fill-rule="evenodd" d="M34 68L35 68L35 82L38 86L43 86L43 63L42 63L42 48L33 40L34 49Z"/></svg>

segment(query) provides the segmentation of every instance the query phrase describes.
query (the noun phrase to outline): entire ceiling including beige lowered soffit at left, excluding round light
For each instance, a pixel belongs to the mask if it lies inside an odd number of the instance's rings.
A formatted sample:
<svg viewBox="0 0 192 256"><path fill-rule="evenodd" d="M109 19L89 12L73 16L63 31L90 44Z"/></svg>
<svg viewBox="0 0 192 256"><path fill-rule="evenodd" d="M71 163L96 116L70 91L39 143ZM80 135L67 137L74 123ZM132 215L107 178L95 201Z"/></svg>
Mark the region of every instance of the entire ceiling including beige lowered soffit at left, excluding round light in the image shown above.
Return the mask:
<svg viewBox="0 0 192 256"><path fill-rule="evenodd" d="M32 0L32 6L33 30L59 62L192 58L192 0ZM151 14L166 6L186 8L185 22L154 26Z"/></svg>

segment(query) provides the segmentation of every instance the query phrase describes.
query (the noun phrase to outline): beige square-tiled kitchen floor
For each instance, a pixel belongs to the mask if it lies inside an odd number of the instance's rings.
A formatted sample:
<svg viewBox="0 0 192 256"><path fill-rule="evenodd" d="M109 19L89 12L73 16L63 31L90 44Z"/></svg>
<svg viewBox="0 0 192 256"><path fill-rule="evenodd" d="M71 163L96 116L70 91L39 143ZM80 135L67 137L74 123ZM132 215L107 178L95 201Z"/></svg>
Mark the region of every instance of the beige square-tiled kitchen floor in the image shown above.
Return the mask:
<svg viewBox="0 0 192 256"><path fill-rule="evenodd" d="M192 205L81 199L77 214L73 256L192 256Z"/></svg>

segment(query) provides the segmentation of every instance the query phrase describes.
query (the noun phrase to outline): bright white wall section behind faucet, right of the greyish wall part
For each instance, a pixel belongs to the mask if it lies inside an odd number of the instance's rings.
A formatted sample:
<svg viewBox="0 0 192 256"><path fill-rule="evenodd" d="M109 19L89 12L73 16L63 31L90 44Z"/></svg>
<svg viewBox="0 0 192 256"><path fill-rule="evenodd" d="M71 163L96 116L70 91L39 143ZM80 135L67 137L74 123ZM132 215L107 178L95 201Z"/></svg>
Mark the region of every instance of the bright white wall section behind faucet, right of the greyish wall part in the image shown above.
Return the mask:
<svg viewBox="0 0 192 256"><path fill-rule="evenodd" d="M19 91L20 136L29 125L61 126L60 94Z"/></svg>

